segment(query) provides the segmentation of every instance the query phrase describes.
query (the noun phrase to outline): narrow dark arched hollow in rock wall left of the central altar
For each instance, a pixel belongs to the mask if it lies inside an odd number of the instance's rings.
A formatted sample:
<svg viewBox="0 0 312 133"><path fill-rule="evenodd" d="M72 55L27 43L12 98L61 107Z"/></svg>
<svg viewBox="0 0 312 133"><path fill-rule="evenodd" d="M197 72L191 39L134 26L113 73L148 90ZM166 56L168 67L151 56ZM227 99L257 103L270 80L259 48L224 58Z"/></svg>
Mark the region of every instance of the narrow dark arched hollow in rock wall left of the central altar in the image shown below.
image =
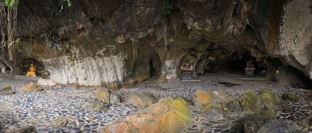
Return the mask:
<svg viewBox="0 0 312 133"><path fill-rule="evenodd" d="M159 76L161 71L161 61L157 54L153 54L150 60L150 77Z"/></svg>

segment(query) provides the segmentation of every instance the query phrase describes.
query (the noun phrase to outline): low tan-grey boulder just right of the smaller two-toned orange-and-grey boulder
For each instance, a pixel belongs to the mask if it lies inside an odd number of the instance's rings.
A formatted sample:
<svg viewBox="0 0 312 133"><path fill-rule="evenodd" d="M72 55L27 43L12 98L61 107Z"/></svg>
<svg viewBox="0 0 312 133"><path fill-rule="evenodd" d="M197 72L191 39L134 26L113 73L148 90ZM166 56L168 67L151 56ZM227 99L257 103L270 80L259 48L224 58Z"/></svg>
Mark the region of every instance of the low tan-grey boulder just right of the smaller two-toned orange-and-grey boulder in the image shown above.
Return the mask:
<svg viewBox="0 0 312 133"><path fill-rule="evenodd" d="M153 94L149 92L138 92L138 93L130 93L127 102L130 102L134 106L143 109L145 107L150 106L153 103L156 103L157 100L153 96Z"/></svg>

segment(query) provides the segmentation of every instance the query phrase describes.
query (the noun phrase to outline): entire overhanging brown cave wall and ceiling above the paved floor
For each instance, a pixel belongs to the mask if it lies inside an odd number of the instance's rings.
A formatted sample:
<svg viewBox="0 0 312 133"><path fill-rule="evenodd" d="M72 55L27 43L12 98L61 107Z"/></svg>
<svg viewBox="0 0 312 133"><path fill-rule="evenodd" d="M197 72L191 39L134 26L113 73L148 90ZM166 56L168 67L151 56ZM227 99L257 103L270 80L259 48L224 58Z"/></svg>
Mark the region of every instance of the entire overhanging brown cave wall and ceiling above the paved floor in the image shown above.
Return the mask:
<svg viewBox="0 0 312 133"><path fill-rule="evenodd" d="M311 0L79 0L61 14L57 4L20 1L19 60L2 54L1 71L22 74L34 60L55 82L119 89L164 81L168 68L180 76L185 61L195 76L251 57L270 73L272 57L312 79ZM45 27L56 27L60 51L40 37Z"/></svg>

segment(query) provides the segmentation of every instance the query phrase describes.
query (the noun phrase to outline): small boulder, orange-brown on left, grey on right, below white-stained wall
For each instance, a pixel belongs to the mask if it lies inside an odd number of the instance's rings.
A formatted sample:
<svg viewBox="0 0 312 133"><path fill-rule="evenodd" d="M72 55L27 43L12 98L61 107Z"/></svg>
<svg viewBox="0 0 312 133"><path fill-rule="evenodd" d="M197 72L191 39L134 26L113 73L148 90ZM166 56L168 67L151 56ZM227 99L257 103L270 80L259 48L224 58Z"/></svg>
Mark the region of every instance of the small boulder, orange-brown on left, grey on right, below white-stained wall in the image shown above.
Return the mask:
<svg viewBox="0 0 312 133"><path fill-rule="evenodd" d="M114 103L114 104L121 103L120 97L116 93L116 91L109 90L104 87L100 87L95 90L95 98L106 103Z"/></svg>

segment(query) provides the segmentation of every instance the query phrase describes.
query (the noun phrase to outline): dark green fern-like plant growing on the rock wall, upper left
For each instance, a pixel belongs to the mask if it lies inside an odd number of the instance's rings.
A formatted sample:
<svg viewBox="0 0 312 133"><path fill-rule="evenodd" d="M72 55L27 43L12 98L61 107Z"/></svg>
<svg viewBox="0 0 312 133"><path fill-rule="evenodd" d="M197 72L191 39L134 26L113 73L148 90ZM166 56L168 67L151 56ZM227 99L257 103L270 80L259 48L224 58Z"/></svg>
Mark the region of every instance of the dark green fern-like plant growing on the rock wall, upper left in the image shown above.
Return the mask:
<svg viewBox="0 0 312 133"><path fill-rule="evenodd" d="M42 30L40 37L45 36L45 42L50 49L53 51L59 51L62 47L61 38L57 37L57 32L55 27L45 27Z"/></svg>

